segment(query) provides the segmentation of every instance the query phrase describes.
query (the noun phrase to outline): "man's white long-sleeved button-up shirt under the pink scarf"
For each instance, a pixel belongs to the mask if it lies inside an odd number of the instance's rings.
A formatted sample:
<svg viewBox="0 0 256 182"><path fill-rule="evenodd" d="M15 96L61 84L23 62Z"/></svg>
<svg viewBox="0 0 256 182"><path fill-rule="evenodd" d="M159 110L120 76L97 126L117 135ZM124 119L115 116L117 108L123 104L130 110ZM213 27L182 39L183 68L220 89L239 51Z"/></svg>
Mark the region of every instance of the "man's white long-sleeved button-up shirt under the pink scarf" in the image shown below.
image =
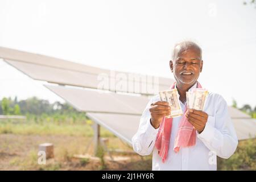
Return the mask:
<svg viewBox="0 0 256 182"><path fill-rule="evenodd" d="M195 88L196 84L192 86ZM191 88L191 89L192 89ZM196 145L192 147L180 147L175 153L174 140L181 117L173 118L170 145L166 162L163 163L154 147L158 129L150 124L150 105L160 101L159 95L151 98L143 111L137 133L132 139L133 149L139 155L152 154L152 170L217 170L217 157L229 158L237 148L238 139L228 106L224 98L219 94L209 93L204 111L208 114L208 121L204 131L196 132ZM184 113L184 106L180 101Z"/></svg>

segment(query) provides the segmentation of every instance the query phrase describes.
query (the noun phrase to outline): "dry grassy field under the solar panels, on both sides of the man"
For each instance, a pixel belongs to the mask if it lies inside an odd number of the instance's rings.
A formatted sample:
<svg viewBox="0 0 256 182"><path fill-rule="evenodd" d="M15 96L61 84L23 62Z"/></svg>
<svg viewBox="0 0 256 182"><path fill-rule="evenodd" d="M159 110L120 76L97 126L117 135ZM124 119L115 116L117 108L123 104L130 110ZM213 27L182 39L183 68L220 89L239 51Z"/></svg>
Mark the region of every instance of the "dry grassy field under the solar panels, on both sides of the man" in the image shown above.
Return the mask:
<svg viewBox="0 0 256 182"><path fill-rule="evenodd" d="M40 120L40 119L39 119ZM0 121L0 170L151 170L151 156L113 154L114 162L104 152L104 161L93 155L92 121L51 122L41 119ZM101 137L108 138L109 149L132 152L133 149L101 127ZM38 164L40 143L54 144L54 159ZM82 154L88 157L74 158ZM256 139L241 141L230 159L218 158L218 170L256 170Z"/></svg>

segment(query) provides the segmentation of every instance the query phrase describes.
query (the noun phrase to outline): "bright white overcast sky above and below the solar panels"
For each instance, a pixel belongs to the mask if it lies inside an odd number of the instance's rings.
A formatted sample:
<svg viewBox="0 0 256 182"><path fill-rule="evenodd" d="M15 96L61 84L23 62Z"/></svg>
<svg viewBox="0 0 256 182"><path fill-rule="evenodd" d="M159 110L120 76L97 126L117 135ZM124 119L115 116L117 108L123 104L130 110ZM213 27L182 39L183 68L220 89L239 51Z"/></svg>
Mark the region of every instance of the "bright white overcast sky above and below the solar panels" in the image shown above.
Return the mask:
<svg viewBox="0 0 256 182"><path fill-rule="evenodd" d="M203 49L199 81L229 105L256 106L256 8L237 1L0 0L0 46L118 71L174 78L177 41ZM0 61L0 98L61 100Z"/></svg>

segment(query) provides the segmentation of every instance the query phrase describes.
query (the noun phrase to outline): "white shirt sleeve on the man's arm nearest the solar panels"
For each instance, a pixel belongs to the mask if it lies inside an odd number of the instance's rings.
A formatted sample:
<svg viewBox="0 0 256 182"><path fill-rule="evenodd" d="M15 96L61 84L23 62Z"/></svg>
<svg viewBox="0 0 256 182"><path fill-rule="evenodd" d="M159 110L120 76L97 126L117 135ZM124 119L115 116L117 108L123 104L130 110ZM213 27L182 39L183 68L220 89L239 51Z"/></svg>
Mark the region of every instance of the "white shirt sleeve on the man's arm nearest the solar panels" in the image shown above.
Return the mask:
<svg viewBox="0 0 256 182"><path fill-rule="evenodd" d="M132 144L133 150L139 155L150 155L154 146L158 129L155 129L150 123L150 105L155 102L156 99L153 97L147 104L146 109L142 113L142 117L139 122L139 128L137 133L133 136Z"/></svg>

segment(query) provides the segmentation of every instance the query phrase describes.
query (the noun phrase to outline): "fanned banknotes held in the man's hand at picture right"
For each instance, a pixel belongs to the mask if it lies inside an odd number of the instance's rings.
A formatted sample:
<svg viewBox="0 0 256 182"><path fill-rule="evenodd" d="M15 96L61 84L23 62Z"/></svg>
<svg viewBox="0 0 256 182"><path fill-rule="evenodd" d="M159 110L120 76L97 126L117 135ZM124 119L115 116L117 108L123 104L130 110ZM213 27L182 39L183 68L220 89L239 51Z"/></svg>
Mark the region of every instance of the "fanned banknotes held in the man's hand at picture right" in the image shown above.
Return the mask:
<svg viewBox="0 0 256 182"><path fill-rule="evenodd" d="M193 89L191 92L186 92L188 109L204 110L208 93L205 89Z"/></svg>

